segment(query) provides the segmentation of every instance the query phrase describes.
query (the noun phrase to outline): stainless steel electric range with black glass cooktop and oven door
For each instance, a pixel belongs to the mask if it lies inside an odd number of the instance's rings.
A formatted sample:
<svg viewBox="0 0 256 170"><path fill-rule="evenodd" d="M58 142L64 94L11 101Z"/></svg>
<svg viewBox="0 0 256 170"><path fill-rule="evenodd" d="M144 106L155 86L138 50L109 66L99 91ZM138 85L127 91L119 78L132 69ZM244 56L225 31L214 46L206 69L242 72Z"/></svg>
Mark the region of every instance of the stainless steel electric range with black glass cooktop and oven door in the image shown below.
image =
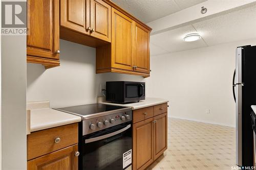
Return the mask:
<svg viewBox="0 0 256 170"><path fill-rule="evenodd" d="M81 117L79 170L123 170L132 164L132 108L91 104L57 110Z"/></svg>

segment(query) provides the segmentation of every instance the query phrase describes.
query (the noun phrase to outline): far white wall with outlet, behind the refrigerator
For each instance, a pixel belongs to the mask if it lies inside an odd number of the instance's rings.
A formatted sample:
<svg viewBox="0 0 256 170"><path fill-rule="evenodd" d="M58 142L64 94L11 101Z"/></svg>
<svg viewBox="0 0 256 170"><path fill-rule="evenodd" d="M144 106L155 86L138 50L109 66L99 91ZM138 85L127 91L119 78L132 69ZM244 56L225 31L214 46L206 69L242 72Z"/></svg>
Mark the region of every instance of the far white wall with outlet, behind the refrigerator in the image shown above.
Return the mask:
<svg viewBox="0 0 256 170"><path fill-rule="evenodd" d="M236 47L247 44L256 39L151 57L148 96L168 99L168 116L234 127Z"/></svg>

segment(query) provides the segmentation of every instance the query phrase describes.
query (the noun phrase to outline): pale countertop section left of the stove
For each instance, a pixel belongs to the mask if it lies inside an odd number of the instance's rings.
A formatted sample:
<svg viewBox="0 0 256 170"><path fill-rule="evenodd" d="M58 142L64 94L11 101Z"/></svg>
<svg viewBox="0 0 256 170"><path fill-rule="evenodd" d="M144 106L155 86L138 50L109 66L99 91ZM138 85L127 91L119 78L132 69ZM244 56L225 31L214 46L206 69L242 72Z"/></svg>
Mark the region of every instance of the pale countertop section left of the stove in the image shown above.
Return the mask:
<svg viewBox="0 0 256 170"><path fill-rule="evenodd" d="M38 105L38 103L36 105ZM30 126L27 129L27 134L81 121L81 117L79 116L47 107L46 102L39 104L36 107L34 106L35 103L33 103L32 106L31 104L27 104L27 108L31 109L28 110L30 112L28 117L28 121L30 119L28 124L30 124Z"/></svg>

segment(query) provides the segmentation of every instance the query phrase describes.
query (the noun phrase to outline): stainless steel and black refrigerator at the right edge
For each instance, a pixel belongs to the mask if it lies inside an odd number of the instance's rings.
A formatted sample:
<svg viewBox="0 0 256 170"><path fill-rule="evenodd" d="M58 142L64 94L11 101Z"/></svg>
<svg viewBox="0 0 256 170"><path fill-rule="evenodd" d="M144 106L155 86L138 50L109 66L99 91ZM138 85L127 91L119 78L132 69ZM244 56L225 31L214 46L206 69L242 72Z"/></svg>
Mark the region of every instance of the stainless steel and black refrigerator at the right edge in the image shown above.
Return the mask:
<svg viewBox="0 0 256 170"><path fill-rule="evenodd" d="M236 102L236 163L253 166L250 106L256 105L256 46L237 47L233 96Z"/></svg>

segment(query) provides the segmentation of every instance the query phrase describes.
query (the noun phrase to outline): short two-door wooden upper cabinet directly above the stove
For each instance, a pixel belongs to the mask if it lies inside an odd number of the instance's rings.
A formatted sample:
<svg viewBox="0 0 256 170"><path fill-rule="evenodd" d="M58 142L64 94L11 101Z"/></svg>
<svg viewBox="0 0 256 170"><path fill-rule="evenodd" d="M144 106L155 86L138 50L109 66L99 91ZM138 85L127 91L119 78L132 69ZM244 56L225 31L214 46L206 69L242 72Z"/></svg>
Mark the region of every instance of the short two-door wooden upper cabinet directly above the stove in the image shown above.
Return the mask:
<svg viewBox="0 0 256 170"><path fill-rule="evenodd" d="M111 6L101 0L60 0L60 26L111 42Z"/></svg>

